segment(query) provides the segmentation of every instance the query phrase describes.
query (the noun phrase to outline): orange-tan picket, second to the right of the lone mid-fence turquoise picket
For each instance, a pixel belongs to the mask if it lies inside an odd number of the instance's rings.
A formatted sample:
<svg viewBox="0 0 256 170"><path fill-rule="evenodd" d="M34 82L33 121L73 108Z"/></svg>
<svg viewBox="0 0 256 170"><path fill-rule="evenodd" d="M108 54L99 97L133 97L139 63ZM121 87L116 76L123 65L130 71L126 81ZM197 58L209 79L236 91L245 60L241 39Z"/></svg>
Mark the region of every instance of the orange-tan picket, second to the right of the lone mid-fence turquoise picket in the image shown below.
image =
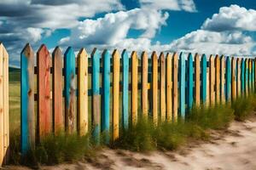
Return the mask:
<svg viewBox="0 0 256 170"><path fill-rule="evenodd" d="M143 118L148 119L148 54L143 51L142 54L142 106Z"/></svg>

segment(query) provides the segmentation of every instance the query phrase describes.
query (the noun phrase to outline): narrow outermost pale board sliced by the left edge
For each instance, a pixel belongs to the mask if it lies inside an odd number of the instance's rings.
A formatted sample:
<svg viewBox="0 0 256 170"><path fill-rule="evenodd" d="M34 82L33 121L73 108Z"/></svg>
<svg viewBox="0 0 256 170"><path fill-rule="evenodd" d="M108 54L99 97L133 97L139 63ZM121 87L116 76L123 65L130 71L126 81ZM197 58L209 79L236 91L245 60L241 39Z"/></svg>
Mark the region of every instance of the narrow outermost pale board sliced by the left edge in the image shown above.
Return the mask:
<svg viewBox="0 0 256 170"><path fill-rule="evenodd" d="M3 153L3 147L4 147L4 112L3 112L3 44L0 44L0 166L2 167L3 159L4 159L4 153Z"/></svg>

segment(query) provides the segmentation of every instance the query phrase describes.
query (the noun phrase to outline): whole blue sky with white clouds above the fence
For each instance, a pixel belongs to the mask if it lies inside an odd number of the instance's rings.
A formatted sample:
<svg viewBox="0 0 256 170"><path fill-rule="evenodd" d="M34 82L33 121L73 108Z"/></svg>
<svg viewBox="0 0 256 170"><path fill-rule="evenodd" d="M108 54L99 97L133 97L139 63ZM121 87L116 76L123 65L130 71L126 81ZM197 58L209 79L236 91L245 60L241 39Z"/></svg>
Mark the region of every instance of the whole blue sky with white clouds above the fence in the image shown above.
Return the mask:
<svg viewBox="0 0 256 170"><path fill-rule="evenodd" d="M123 48L206 54L256 54L253 0L1 0L0 41L10 64L36 51Z"/></svg>

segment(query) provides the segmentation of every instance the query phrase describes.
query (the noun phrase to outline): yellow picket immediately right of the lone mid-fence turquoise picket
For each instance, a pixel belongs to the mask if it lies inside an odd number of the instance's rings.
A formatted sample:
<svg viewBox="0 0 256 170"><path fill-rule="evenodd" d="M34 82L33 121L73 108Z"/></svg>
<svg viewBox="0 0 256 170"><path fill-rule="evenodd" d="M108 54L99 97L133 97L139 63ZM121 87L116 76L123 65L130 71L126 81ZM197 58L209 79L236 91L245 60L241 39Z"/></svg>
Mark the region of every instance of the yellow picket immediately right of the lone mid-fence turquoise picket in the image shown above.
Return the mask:
<svg viewBox="0 0 256 170"><path fill-rule="evenodd" d="M131 122L132 125L137 124L137 52L131 53Z"/></svg>

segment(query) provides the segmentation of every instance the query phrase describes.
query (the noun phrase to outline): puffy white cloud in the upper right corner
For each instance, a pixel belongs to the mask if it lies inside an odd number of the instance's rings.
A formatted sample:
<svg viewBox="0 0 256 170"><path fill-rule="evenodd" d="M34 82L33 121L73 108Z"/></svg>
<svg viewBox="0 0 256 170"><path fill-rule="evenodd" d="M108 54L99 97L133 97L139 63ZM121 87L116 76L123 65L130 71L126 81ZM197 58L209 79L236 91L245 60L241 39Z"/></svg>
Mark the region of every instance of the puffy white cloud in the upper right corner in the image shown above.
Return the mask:
<svg viewBox="0 0 256 170"><path fill-rule="evenodd" d="M219 8L218 14L207 19L201 29L210 31L256 31L256 10L231 5Z"/></svg>

